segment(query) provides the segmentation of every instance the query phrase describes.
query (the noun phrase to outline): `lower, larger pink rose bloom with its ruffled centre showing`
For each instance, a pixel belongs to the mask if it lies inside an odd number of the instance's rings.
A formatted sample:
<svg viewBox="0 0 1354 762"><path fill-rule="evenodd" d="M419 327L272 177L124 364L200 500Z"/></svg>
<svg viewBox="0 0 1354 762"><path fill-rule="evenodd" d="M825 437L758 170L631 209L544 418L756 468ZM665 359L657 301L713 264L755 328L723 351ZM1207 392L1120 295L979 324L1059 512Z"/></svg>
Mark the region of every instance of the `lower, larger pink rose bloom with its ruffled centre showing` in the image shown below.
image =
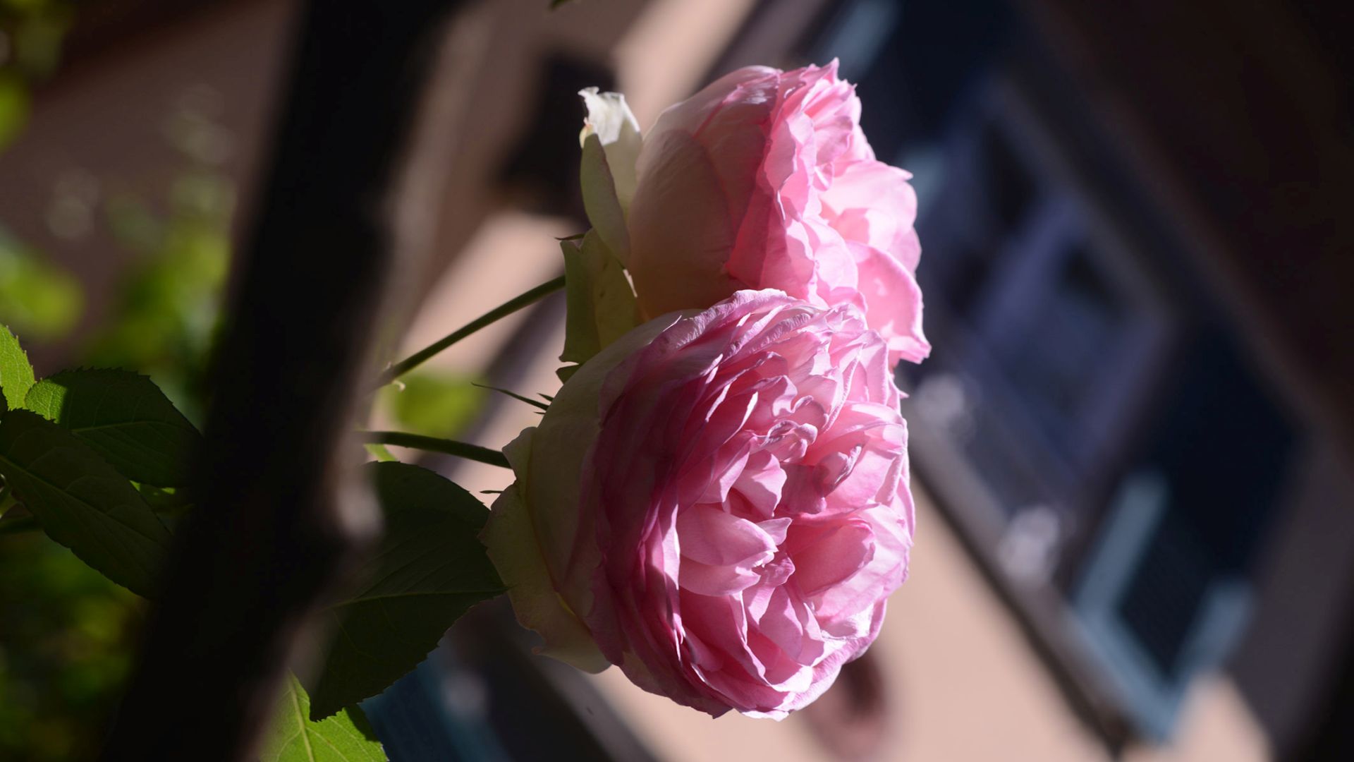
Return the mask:
<svg viewBox="0 0 1354 762"><path fill-rule="evenodd" d="M626 334L505 449L482 538L543 652L784 717L907 575L907 430L853 305L743 290Z"/></svg>

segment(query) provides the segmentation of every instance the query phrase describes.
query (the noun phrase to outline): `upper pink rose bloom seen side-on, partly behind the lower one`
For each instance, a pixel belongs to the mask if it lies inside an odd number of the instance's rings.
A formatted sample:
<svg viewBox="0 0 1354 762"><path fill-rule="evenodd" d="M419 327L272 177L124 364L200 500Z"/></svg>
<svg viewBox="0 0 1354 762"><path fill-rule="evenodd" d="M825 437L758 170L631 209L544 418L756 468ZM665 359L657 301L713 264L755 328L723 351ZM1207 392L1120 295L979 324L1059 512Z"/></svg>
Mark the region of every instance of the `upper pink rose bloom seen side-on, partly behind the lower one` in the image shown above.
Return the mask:
<svg viewBox="0 0 1354 762"><path fill-rule="evenodd" d="M780 289L854 304L890 365L922 361L917 195L911 175L875 159L860 111L835 61L738 69L663 111L643 136L626 217L643 313Z"/></svg>

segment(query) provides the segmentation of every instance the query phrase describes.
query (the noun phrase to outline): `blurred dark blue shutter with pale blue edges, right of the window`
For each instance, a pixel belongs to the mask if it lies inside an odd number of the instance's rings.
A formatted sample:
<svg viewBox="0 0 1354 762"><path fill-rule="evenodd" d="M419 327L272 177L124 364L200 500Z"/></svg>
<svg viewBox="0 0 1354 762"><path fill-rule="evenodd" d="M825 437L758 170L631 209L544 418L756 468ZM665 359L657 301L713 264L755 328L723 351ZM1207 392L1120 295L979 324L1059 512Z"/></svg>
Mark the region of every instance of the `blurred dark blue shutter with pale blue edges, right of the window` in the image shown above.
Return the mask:
<svg viewBox="0 0 1354 762"><path fill-rule="evenodd" d="M1296 441L1225 338L1193 342L1173 378L1075 593L1087 643L1158 738L1240 633Z"/></svg>

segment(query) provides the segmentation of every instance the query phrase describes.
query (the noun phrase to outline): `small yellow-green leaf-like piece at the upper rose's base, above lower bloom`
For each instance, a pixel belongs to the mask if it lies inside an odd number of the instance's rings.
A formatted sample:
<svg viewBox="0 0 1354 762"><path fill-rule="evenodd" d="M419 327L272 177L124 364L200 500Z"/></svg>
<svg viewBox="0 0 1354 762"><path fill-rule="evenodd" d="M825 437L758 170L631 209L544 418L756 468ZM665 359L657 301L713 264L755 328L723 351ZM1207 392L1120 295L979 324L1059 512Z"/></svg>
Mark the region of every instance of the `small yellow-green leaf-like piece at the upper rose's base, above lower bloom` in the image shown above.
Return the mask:
<svg viewBox="0 0 1354 762"><path fill-rule="evenodd" d="M620 262L596 230L565 252L565 351L559 359L582 365L639 324L635 292Z"/></svg>

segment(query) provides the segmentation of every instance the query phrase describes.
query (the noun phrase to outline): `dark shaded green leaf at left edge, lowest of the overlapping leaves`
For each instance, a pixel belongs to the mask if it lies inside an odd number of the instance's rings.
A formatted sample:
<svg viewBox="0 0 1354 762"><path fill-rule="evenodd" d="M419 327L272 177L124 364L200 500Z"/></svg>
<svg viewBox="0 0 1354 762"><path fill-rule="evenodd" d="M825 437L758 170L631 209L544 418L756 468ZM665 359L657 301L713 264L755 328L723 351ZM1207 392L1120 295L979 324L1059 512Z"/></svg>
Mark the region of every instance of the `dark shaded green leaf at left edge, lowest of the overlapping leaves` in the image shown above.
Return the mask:
<svg viewBox="0 0 1354 762"><path fill-rule="evenodd" d="M0 419L0 473L57 542L118 584L149 595L171 534L146 502L93 450L42 416Z"/></svg>

